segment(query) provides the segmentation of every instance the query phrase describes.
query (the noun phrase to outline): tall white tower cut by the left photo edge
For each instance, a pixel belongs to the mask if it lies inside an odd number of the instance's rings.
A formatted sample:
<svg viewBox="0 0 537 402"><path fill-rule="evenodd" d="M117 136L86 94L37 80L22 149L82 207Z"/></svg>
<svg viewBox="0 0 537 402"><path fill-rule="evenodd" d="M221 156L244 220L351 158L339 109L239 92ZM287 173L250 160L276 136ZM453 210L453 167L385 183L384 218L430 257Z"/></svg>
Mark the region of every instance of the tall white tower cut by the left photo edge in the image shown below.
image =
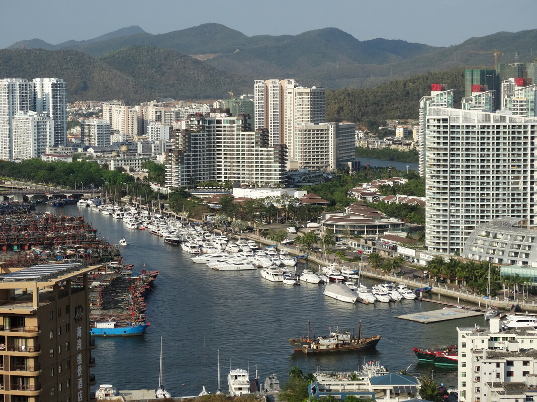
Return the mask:
<svg viewBox="0 0 537 402"><path fill-rule="evenodd" d="M0 159L13 158L13 116L34 109L34 92L33 81L0 80Z"/></svg>

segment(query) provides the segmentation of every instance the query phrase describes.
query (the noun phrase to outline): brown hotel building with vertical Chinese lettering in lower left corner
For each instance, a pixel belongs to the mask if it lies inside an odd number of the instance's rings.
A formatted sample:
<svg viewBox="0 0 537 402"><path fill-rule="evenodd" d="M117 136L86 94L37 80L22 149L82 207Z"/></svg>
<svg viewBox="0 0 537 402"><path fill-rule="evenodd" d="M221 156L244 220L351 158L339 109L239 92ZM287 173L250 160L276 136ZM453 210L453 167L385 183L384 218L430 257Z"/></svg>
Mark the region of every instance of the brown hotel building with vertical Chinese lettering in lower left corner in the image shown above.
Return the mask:
<svg viewBox="0 0 537 402"><path fill-rule="evenodd" d="M85 402L96 383L88 272L78 264L0 267L0 398Z"/></svg>

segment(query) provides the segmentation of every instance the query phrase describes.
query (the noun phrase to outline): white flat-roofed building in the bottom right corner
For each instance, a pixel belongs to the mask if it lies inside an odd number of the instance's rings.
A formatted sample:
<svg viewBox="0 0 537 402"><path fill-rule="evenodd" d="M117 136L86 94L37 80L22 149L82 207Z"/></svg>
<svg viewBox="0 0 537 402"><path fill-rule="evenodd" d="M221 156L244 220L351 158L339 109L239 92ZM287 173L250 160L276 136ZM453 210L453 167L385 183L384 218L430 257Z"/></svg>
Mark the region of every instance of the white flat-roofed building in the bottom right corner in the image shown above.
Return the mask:
<svg viewBox="0 0 537 402"><path fill-rule="evenodd" d="M537 330L458 327L460 402L524 402L537 397Z"/></svg>

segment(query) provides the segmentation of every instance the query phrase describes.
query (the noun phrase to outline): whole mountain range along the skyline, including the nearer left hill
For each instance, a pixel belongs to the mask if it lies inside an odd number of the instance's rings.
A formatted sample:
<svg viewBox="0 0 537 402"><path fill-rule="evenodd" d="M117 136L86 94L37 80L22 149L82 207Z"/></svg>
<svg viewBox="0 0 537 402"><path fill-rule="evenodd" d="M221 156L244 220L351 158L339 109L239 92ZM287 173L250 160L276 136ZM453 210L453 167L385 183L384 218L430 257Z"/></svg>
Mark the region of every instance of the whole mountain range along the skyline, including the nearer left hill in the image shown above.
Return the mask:
<svg viewBox="0 0 537 402"><path fill-rule="evenodd" d="M0 77L66 79L69 98L223 98L227 91L251 93L254 79L295 78L302 85L367 88L418 73L456 66L494 66L530 60L537 29L498 32L450 47L402 40L360 41L338 28L298 35L246 36L220 24L165 34L139 26L97 38L59 44L40 39L0 50ZM24 46L25 51L21 51ZM72 70L73 68L77 71ZM97 81L106 77L107 83Z"/></svg>

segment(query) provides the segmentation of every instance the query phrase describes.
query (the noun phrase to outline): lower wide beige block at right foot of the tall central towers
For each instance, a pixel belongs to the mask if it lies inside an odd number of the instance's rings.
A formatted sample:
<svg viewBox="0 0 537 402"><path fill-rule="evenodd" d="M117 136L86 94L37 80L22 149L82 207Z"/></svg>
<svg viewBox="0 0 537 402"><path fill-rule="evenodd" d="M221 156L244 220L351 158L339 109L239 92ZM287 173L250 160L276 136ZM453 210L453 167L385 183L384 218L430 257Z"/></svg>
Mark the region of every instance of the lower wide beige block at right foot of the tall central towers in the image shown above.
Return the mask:
<svg viewBox="0 0 537 402"><path fill-rule="evenodd" d="M355 159L355 124L299 124L294 128L293 169L336 169L341 162ZM289 145L290 147L291 145Z"/></svg>

